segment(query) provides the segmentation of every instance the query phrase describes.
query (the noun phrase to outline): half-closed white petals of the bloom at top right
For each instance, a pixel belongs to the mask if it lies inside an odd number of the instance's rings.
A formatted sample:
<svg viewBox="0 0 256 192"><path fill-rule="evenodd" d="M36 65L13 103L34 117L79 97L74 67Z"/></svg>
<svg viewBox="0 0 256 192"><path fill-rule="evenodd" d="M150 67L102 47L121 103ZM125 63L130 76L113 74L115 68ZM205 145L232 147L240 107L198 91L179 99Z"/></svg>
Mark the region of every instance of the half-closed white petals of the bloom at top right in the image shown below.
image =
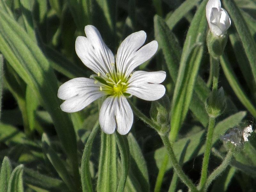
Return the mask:
<svg viewBox="0 0 256 192"><path fill-rule="evenodd" d="M206 4L206 19L210 30L215 36L226 34L231 25L230 17L221 7L220 0L209 0Z"/></svg>

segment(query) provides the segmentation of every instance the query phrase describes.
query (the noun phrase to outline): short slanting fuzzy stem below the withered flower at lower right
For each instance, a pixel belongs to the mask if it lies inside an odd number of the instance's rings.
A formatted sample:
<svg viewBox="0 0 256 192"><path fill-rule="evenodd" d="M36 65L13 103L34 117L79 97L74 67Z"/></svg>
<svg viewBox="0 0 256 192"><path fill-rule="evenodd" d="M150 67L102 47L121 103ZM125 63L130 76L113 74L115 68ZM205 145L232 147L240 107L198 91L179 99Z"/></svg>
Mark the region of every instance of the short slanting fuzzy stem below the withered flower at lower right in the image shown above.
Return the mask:
<svg viewBox="0 0 256 192"><path fill-rule="evenodd" d="M212 173L211 175L208 177L206 183L205 183L205 188L204 191L207 191L208 187L210 186L210 184L212 183L213 180L215 180L223 171L226 170L226 168L228 167L232 156L234 154L234 148L228 151L228 154L226 155L225 159L222 161L222 163L220 164L219 167L217 167Z"/></svg>

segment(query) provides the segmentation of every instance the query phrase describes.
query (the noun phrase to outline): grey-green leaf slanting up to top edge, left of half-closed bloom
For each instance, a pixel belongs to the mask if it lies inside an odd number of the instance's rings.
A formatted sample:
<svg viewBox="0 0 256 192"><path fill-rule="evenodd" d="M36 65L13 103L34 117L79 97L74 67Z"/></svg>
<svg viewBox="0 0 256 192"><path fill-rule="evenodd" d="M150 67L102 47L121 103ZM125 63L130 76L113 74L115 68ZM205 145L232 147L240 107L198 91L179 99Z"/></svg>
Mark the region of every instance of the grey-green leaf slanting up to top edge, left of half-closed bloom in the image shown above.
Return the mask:
<svg viewBox="0 0 256 192"><path fill-rule="evenodd" d="M198 4L200 0L186 0L184 1L175 11L171 14L170 17L166 19L166 23L170 29L173 29L174 26L184 17L186 14Z"/></svg>

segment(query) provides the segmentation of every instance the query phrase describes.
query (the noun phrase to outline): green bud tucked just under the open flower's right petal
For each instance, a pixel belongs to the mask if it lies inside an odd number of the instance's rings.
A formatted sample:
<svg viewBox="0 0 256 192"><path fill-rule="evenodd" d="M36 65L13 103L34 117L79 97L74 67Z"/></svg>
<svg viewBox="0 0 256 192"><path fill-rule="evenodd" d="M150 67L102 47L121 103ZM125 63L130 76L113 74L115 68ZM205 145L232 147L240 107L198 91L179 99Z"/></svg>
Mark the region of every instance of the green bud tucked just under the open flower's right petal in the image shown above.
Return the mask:
<svg viewBox="0 0 256 192"><path fill-rule="evenodd" d="M153 121L161 126L169 123L170 100L166 94L151 103L150 116Z"/></svg>

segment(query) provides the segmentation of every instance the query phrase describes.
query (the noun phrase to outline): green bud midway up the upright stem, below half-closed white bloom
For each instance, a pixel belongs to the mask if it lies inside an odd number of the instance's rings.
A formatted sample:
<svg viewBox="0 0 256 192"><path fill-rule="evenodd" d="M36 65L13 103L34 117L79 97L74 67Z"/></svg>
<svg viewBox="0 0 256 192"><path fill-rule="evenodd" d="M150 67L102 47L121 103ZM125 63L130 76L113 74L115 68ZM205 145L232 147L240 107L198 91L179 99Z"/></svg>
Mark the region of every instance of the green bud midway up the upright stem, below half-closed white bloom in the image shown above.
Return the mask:
<svg viewBox="0 0 256 192"><path fill-rule="evenodd" d="M226 97L222 87L213 90L205 102L205 109L210 117L220 116L226 108Z"/></svg>

